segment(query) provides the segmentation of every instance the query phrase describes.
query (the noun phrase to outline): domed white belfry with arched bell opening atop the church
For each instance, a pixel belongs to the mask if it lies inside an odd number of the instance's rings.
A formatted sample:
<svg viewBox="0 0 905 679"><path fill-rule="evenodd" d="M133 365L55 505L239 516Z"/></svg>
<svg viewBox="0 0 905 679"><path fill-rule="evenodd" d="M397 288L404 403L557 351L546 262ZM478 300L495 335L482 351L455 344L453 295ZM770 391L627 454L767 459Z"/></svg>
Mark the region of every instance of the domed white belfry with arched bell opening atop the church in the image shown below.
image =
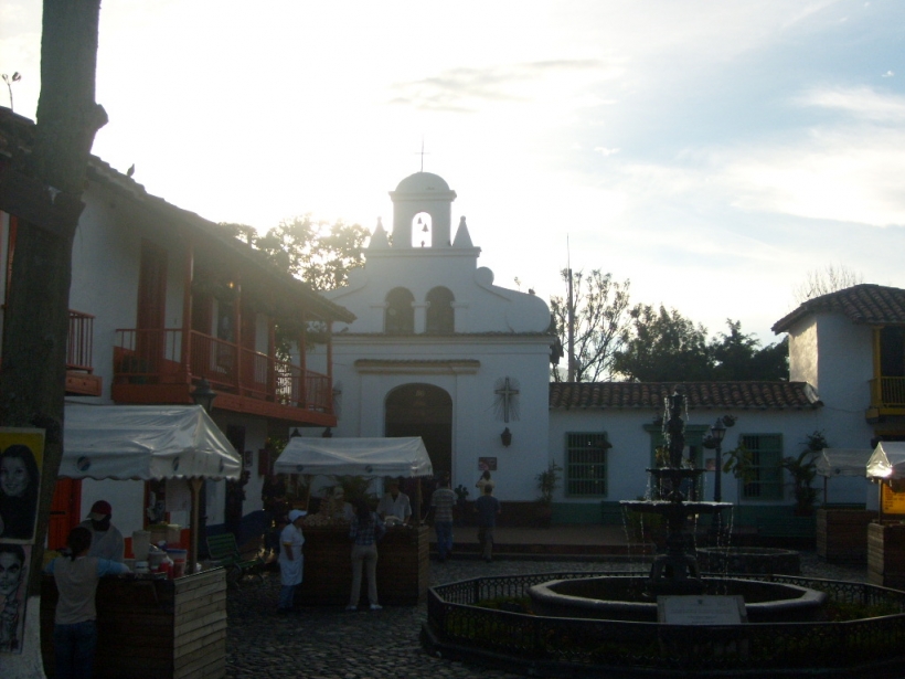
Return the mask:
<svg viewBox="0 0 905 679"><path fill-rule="evenodd" d="M453 201L456 192L441 177L430 172L415 172L403 179L395 191L390 192L393 200L393 248L412 247L412 230L416 218L425 224L428 215L429 243L426 247L451 247Z"/></svg>

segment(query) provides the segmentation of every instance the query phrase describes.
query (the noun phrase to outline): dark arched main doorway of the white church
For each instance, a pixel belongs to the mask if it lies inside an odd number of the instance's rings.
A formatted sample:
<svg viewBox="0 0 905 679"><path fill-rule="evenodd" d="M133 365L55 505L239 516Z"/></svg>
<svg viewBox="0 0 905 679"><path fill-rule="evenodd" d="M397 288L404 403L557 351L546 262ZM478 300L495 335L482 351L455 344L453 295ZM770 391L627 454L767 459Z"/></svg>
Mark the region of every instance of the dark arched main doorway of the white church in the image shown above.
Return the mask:
<svg viewBox="0 0 905 679"><path fill-rule="evenodd" d="M420 436L434 476L453 474L453 397L439 386L413 383L386 396L386 436Z"/></svg>

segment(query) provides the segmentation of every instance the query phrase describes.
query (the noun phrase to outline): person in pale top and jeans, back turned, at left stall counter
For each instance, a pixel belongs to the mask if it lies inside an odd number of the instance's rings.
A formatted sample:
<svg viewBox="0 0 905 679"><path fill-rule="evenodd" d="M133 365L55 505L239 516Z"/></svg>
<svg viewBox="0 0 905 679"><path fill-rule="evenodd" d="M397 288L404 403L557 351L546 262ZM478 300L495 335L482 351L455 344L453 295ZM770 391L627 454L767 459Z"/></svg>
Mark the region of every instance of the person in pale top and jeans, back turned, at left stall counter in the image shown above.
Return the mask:
<svg viewBox="0 0 905 679"><path fill-rule="evenodd" d="M53 574L60 598L53 626L57 679L91 679L97 648L97 582L104 575L129 573L126 564L88 556L92 532L76 526L66 538L67 556L57 556L45 571Z"/></svg>

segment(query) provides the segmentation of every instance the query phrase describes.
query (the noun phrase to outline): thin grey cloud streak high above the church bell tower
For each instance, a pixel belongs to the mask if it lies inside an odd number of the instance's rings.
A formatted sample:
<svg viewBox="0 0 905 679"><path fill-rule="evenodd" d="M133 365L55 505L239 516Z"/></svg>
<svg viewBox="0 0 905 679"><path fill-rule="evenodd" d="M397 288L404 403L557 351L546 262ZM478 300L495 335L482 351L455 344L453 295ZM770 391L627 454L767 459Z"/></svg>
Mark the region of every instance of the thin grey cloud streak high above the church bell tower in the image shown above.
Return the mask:
<svg viewBox="0 0 905 679"><path fill-rule="evenodd" d="M391 86L391 104L422 110L477 113L488 103L523 104L540 94L539 83L550 76L562 78L582 74L610 77L617 66L601 60L546 60L489 66L460 67Z"/></svg>

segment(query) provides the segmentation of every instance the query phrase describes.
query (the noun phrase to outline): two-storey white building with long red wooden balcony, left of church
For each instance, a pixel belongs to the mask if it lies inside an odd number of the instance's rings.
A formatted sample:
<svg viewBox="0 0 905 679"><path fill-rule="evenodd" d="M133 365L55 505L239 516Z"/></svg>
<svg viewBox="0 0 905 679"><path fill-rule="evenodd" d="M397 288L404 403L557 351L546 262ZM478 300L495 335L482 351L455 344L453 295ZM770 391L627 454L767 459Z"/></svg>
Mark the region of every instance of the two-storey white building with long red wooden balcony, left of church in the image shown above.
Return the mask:
<svg viewBox="0 0 905 679"><path fill-rule="evenodd" d="M12 153L29 152L33 131L31 120L0 108L0 171ZM83 202L73 243L67 399L191 404L206 380L217 394L212 416L249 471L242 513L260 509L268 437L337 425L331 328L354 316L273 268L222 226L150 195L99 158L91 159ZM14 285L20 227L15 215L0 212L0 301ZM316 346L319 371L307 365ZM184 523L181 486L73 481L57 494L55 510L66 519L56 524L65 534L102 498L114 505L124 534L147 523L152 501ZM225 495L224 482L207 484L209 526L228 518Z"/></svg>

